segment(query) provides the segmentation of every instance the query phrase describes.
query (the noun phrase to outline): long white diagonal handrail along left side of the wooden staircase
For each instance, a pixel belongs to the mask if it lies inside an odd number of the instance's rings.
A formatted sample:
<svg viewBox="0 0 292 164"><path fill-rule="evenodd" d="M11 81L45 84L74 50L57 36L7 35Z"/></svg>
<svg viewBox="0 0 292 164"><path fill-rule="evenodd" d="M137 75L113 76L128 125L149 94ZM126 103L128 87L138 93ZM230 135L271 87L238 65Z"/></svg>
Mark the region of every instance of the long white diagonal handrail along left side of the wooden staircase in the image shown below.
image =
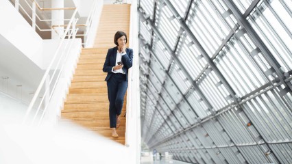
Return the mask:
<svg viewBox="0 0 292 164"><path fill-rule="evenodd" d="M34 94L34 97L32 98L32 101L29 103L29 107L27 108L27 111L25 113L25 118L23 119L23 123L26 122L26 120L27 120L27 118L29 116L29 113L32 111L32 108L34 107L34 104L36 103L36 98L38 98L38 96L40 94L40 90L42 90L42 87L43 87L45 81L49 77L49 71L52 69L52 66L53 66L53 64L54 64L54 62L56 60L56 57L58 56L59 51L60 51L61 47L63 46L63 42L64 42L64 40L66 38L67 33L69 33L69 29L70 29L71 25L73 24L73 19L75 18L75 14L76 13L77 13L77 9L74 10L73 15L71 17L71 20L69 22L69 25L66 27L66 31L64 32L64 34L62 36L62 39L60 41L60 44L58 45L56 53L53 55L53 59L52 59L51 63L49 64L44 76L42 77L42 80L40 81L40 85L38 85L38 89L36 90L36 93ZM69 33L69 35L70 35L70 33ZM58 68L58 65L56 66L56 68ZM51 79L53 79L53 77L51 77ZM56 79L56 81L58 81L58 79ZM47 93L47 90L48 90L48 88L46 89L45 93ZM43 100L42 100L42 102L43 102ZM40 105L39 105L37 110L39 110L39 109L40 109Z"/></svg>

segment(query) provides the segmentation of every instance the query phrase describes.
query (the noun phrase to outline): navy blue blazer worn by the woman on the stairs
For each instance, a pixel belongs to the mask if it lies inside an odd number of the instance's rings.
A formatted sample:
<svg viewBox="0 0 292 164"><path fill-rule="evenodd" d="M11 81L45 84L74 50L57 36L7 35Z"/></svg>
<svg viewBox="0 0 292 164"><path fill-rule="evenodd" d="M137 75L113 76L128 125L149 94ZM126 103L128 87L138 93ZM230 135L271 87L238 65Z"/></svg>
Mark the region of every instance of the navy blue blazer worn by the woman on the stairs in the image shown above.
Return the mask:
<svg viewBox="0 0 292 164"><path fill-rule="evenodd" d="M116 58L117 58L118 47L115 46L112 49L108 49L108 54L106 55L106 61L104 61L104 68L102 70L104 72L108 72L105 81L108 81L112 76L112 67L116 66ZM133 65L133 50L125 49L125 55L122 56L121 61L123 62L123 71L125 72L126 81L127 81L127 70Z"/></svg>

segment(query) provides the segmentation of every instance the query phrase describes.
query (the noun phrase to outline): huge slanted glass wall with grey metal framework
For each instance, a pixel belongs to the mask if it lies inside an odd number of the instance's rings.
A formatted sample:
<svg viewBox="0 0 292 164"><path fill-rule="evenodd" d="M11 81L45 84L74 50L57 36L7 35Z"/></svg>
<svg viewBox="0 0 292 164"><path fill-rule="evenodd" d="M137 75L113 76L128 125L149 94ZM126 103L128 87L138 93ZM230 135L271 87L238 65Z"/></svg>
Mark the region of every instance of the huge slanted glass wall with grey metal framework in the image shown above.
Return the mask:
<svg viewBox="0 0 292 164"><path fill-rule="evenodd" d="M189 163L292 163L292 1L139 0L142 138Z"/></svg>

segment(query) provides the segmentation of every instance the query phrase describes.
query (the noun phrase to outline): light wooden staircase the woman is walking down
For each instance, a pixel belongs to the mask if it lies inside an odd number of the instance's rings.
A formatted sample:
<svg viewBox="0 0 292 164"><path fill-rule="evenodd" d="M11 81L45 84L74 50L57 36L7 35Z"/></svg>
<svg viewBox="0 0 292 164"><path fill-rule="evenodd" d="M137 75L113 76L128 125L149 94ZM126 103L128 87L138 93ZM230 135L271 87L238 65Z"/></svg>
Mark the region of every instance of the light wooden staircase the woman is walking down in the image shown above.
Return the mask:
<svg viewBox="0 0 292 164"><path fill-rule="evenodd" d="M114 33L129 33L130 5L104 5L97 29L94 48L82 49L69 94L64 102L62 118L73 120L110 139L125 144L126 96L121 113L118 138L112 138L109 120L108 90L105 72L102 71L108 49L115 46ZM127 36L129 37L129 36ZM127 45L128 46L128 45Z"/></svg>

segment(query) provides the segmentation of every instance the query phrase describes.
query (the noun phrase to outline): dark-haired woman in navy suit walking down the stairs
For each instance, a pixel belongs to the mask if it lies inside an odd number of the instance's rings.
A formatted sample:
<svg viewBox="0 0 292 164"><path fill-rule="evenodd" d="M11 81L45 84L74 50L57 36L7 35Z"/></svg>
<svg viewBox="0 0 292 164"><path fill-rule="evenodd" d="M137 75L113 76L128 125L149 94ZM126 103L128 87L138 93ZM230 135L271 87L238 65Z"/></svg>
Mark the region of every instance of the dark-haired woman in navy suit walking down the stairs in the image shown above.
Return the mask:
<svg viewBox="0 0 292 164"><path fill-rule="evenodd" d="M110 101L110 128L112 137L119 137L116 128L120 125L120 115L123 109L123 97L127 90L127 72L132 67L133 50L127 49L127 35L123 31L117 31L114 35L115 46L108 49L104 72L108 72L106 83L108 85L108 100Z"/></svg>

